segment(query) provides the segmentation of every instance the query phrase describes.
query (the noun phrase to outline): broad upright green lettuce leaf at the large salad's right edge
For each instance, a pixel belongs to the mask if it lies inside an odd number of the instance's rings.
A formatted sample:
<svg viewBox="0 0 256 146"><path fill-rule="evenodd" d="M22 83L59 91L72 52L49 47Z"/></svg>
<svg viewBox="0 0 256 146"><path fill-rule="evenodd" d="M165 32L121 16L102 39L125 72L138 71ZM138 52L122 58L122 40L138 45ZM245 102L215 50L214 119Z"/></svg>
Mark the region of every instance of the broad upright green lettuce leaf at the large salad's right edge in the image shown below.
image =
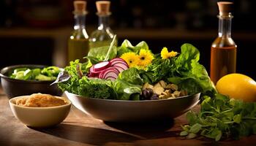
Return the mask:
<svg viewBox="0 0 256 146"><path fill-rule="evenodd" d="M178 76L169 77L168 80L178 85L188 93L216 93L214 85L203 65L199 64L200 53L196 47L190 44L181 46L181 55L175 61L174 72Z"/></svg>

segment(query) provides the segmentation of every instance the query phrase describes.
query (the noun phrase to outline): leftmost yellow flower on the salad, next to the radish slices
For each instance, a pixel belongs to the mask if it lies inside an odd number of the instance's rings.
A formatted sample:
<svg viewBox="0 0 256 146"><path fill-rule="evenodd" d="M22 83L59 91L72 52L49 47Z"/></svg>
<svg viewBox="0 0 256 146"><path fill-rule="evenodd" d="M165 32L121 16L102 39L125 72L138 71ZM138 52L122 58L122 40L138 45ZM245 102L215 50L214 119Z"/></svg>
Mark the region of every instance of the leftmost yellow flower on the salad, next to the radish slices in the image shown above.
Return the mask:
<svg viewBox="0 0 256 146"><path fill-rule="evenodd" d="M120 58L124 59L124 61L127 62L129 67L135 67L138 65L138 62L139 62L138 55L132 52L124 53L123 55L121 55Z"/></svg>

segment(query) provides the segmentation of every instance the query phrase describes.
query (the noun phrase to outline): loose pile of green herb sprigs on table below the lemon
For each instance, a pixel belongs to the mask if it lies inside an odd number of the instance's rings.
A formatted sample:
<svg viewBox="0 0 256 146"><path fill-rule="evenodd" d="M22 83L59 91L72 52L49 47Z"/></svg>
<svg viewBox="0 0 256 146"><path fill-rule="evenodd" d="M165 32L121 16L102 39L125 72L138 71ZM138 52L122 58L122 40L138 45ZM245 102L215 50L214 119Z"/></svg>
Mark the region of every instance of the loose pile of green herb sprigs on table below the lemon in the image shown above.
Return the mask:
<svg viewBox="0 0 256 146"><path fill-rule="evenodd" d="M192 139L201 135L219 141L256 134L256 103L229 99L219 93L203 98L199 113L187 113L189 125L181 126L181 136Z"/></svg>

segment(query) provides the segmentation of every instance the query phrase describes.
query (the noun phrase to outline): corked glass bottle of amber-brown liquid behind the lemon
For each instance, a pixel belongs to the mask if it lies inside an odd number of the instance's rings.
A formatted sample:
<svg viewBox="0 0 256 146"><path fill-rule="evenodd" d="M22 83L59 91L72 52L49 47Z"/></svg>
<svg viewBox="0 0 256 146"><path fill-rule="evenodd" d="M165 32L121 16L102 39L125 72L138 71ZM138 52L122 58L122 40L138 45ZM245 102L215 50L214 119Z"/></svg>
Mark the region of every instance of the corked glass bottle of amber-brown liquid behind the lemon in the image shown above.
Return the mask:
<svg viewBox="0 0 256 146"><path fill-rule="evenodd" d="M214 84L225 74L236 72L236 43L231 38L232 2L222 1L219 6L219 36L211 45L211 80Z"/></svg>

